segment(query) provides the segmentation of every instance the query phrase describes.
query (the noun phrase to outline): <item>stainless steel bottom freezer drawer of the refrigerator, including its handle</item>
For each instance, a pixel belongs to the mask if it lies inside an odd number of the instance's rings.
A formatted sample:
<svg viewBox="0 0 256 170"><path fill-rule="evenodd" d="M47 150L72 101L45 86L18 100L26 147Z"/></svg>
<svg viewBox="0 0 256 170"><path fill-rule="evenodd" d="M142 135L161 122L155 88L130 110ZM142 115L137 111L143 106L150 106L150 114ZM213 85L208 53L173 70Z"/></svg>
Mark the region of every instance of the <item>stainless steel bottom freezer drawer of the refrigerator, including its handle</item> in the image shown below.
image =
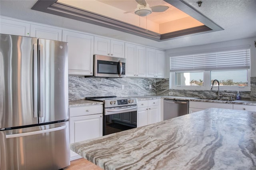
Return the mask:
<svg viewBox="0 0 256 170"><path fill-rule="evenodd" d="M1 170L59 170L70 165L68 121L0 131Z"/></svg>

